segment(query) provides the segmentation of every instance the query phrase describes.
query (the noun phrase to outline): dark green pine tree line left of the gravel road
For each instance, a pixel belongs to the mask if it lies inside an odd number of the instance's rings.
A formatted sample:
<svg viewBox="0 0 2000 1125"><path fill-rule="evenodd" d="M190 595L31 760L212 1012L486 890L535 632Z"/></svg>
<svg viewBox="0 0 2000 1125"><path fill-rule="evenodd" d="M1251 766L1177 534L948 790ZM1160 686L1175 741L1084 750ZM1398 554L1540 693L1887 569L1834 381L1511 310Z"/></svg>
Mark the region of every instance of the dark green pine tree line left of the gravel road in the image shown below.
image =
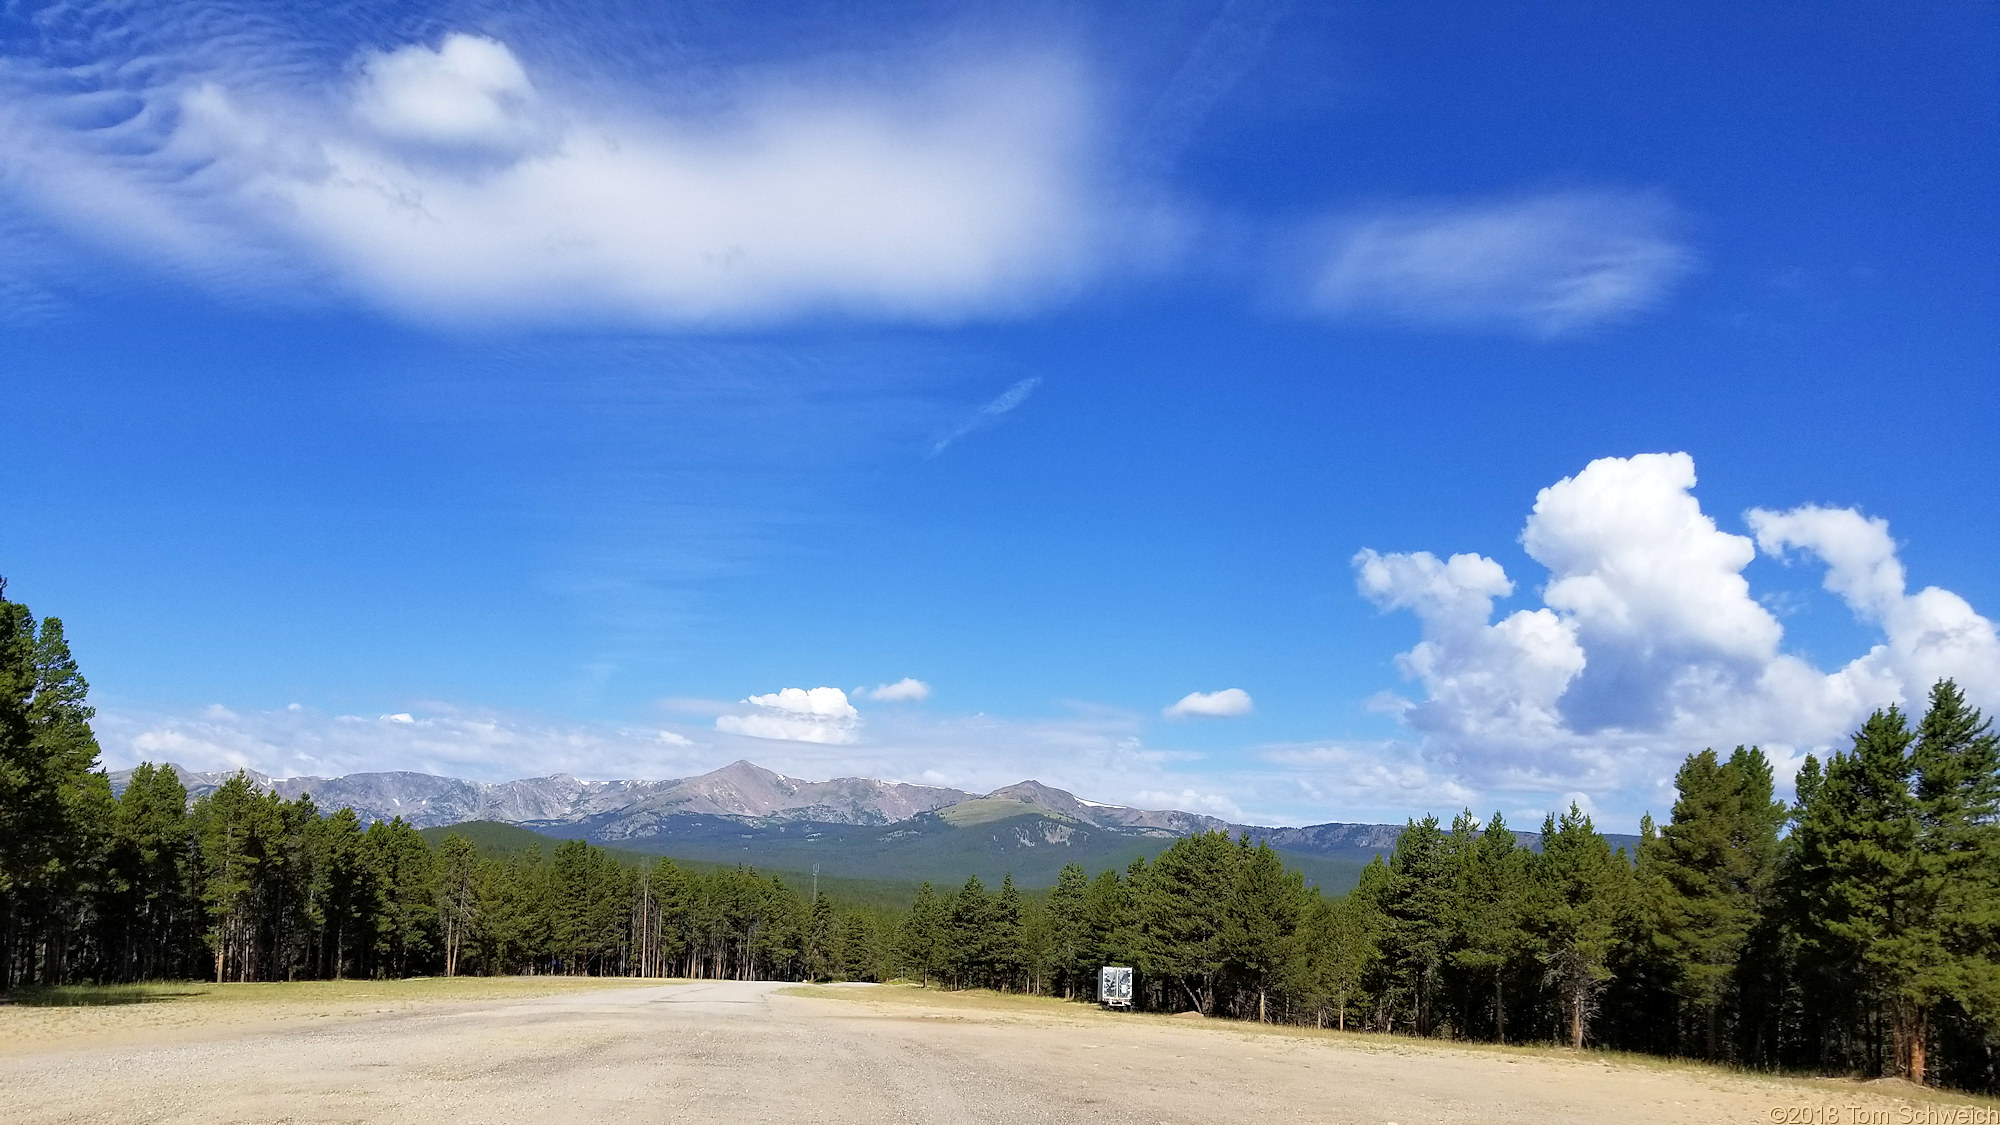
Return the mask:
<svg viewBox="0 0 2000 1125"><path fill-rule="evenodd" d="M754 869L634 867L432 847L236 775L196 801L172 767L98 769L62 621L0 583L0 989L146 979L454 973L874 979L874 911Z"/></svg>

